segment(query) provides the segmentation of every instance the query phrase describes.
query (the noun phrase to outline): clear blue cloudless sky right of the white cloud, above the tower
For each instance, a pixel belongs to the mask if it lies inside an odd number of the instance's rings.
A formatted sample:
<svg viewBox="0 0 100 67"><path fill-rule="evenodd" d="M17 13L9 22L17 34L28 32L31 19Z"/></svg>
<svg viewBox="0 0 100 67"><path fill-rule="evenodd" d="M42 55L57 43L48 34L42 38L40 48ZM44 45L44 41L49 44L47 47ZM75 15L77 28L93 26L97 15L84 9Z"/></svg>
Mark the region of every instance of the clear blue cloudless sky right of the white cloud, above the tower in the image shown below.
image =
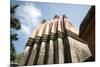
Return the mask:
<svg viewBox="0 0 100 67"><path fill-rule="evenodd" d="M58 4L58 3L35 3L36 7L42 10L41 19L52 19L57 15L65 14L72 24L79 28L84 16L88 12L89 5L76 5L76 4Z"/></svg>

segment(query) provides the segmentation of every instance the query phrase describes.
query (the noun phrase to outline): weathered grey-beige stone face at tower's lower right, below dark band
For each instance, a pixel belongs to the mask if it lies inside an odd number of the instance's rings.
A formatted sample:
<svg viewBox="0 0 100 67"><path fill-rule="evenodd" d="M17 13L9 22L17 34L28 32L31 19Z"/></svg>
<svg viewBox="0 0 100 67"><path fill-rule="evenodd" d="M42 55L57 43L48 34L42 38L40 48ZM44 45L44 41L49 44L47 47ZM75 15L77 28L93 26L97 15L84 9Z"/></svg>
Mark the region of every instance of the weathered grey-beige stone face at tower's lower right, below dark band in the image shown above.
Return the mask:
<svg viewBox="0 0 100 67"><path fill-rule="evenodd" d="M70 43L72 62L82 62L91 56L87 44L68 37Z"/></svg>

